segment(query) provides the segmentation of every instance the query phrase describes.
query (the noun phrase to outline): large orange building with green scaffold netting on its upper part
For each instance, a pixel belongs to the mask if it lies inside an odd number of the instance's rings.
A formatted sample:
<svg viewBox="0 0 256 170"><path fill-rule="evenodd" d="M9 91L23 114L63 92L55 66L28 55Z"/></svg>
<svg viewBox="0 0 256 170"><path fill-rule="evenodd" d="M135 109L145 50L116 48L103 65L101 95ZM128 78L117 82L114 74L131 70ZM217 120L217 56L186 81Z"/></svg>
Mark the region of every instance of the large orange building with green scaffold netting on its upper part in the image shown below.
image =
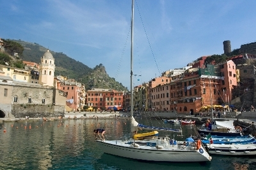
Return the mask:
<svg viewBox="0 0 256 170"><path fill-rule="evenodd" d="M236 65L226 61L206 68L190 68L170 83L171 110L200 112L202 107L230 104L231 91L237 86ZM219 108L214 108L215 110Z"/></svg>

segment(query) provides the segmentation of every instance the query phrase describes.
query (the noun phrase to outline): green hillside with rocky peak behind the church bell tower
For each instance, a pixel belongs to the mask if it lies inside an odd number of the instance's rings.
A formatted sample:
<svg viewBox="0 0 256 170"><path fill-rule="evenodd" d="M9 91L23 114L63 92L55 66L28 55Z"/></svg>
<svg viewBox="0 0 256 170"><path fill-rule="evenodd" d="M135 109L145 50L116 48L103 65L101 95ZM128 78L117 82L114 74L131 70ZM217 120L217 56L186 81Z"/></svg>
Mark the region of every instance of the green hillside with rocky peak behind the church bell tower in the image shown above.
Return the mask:
<svg viewBox="0 0 256 170"><path fill-rule="evenodd" d="M22 60L40 63L40 58L44 55L47 48L38 43L29 43L22 40L12 40L20 43L24 47ZM68 79L76 79L85 84L86 89L91 88L109 88L120 91L128 91L122 83L116 82L114 78L109 77L106 73L104 65L101 63L95 68L90 68L83 63L68 57L63 52L54 52L51 50L52 56L55 58L55 75L67 76Z"/></svg>

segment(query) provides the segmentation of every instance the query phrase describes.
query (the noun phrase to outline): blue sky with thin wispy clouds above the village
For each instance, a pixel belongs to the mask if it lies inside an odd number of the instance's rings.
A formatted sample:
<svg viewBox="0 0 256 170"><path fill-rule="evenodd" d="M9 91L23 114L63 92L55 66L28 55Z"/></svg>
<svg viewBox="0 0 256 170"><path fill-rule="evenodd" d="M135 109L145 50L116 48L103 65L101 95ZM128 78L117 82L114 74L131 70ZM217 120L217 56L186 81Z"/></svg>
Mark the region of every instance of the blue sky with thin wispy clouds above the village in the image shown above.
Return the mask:
<svg viewBox="0 0 256 170"><path fill-rule="evenodd" d="M201 56L256 40L256 1L137 0L134 86ZM138 6L138 7L137 7ZM35 42L94 68L102 63L130 88L131 1L1 1L0 37Z"/></svg>

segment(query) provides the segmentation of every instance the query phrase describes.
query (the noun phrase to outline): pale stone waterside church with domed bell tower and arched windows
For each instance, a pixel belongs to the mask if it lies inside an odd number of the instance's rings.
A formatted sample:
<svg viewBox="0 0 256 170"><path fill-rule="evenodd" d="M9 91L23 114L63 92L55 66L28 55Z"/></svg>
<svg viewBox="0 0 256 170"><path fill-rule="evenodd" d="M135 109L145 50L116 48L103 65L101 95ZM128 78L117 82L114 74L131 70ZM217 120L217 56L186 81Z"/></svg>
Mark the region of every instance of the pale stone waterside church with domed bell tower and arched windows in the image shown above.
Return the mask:
<svg viewBox="0 0 256 170"><path fill-rule="evenodd" d="M54 58L47 50L39 64L38 81L31 72L0 65L0 118L62 116L66 97L54 81ZM14 79L15 78L15 79Z"/></svg>

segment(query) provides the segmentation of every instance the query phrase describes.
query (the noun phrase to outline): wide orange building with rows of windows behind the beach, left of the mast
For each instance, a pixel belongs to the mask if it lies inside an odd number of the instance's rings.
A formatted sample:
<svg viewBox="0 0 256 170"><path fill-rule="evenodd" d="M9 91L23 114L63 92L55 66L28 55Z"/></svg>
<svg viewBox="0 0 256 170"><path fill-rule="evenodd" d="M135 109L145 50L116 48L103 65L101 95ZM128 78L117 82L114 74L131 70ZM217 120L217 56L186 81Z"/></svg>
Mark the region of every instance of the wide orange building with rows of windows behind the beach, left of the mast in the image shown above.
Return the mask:
<svg viewBox="0 0 256 170"><path fill-rule="evenodd" d="M98 109L108 109L109 107L123 107L123 92L115 89L91 89L87 91L86 104Z"/></svg>

